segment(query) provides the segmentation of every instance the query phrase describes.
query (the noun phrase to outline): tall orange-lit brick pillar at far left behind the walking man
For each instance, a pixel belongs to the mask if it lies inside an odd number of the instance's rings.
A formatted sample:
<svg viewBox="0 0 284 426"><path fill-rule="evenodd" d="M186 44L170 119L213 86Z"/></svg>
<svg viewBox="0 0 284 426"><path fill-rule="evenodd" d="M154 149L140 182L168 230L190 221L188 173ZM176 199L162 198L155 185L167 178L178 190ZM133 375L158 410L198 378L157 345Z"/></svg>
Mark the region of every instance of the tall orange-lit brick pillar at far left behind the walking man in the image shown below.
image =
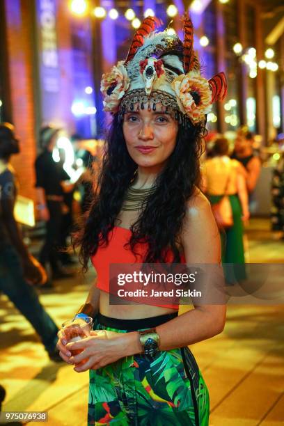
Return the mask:
<svg viewBox="0 0 284 426"><path fill-rule="evenodd" d="M12 118L21 141L21 152L13 156L13 166L19 178L19 193L34 198L34 168L36 139L33 103L33 54L29 1L5 0L6 42Z"/></svg>

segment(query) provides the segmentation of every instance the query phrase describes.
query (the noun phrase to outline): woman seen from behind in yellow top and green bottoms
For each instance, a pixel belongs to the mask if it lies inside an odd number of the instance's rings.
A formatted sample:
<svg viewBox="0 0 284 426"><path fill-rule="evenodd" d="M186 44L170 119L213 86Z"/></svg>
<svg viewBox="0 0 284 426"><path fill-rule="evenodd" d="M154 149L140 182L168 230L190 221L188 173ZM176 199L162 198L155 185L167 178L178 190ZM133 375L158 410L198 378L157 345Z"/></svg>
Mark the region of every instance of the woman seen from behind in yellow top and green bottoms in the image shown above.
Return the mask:
<svg viewBox="0 0 284 426"><path fill-rule="evenodd" d="M226 229L223 244L223 263L244 264L243 221L249 218L248 194L242 164L228 157L225 138L214 143L212 158L205 161L203 191L210 203L218 203L226 193L232 207L233 226Z"/></svg>

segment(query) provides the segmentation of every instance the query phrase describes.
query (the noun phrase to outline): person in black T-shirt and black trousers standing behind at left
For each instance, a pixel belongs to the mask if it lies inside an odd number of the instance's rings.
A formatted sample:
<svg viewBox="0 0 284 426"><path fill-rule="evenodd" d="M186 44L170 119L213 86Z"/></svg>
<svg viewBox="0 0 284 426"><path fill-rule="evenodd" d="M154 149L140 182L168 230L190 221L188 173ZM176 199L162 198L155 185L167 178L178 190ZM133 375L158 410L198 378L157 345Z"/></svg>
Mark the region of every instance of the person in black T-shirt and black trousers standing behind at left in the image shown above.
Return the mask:
<svg viewBox="0 0 284 426"><path fill-rule="evenodd" d="M42 153L36 159L36 192L37 209L42 221L46 222L45 242L40 251L40 262L52 269L52 278L68 278L72 276L61 264L58 249L61 248L60 230L63 213L65 192L72 191L74 184L68 181L70 177L60 162L55 162L52 152L56 146L60 129L52 126L43 127L40 131L40 146Z"/></svg>

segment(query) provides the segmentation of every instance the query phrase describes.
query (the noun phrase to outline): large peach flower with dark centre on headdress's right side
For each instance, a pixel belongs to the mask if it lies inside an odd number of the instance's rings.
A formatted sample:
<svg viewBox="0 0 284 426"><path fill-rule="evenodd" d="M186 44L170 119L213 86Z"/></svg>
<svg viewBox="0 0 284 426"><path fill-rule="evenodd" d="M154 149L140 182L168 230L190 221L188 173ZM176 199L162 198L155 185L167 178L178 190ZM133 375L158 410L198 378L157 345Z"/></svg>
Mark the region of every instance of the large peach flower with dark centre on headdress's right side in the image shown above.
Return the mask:
<svg viewBox="0 0 284 426"><path fill-rule="evenodd" d="M196 124L205 118L212 109L212 93L207 79L196 71L181 74L172 84L180 111L186 113L191 122Z"/></svg>

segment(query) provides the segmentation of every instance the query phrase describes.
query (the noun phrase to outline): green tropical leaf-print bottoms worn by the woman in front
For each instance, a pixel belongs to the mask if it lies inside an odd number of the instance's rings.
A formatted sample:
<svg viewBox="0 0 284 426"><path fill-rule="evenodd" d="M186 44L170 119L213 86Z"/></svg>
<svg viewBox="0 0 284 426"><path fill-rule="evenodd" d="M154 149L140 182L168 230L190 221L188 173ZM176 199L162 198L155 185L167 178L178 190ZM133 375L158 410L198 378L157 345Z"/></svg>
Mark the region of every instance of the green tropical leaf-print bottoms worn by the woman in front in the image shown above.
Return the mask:
<svg viewBox="0 0 284 426"><path fill-rule="evenodd" d="M97 324L96 329L127 332ZM191 351L134 355L90 370L89 425L207 426L209 395Z"/></svg>

